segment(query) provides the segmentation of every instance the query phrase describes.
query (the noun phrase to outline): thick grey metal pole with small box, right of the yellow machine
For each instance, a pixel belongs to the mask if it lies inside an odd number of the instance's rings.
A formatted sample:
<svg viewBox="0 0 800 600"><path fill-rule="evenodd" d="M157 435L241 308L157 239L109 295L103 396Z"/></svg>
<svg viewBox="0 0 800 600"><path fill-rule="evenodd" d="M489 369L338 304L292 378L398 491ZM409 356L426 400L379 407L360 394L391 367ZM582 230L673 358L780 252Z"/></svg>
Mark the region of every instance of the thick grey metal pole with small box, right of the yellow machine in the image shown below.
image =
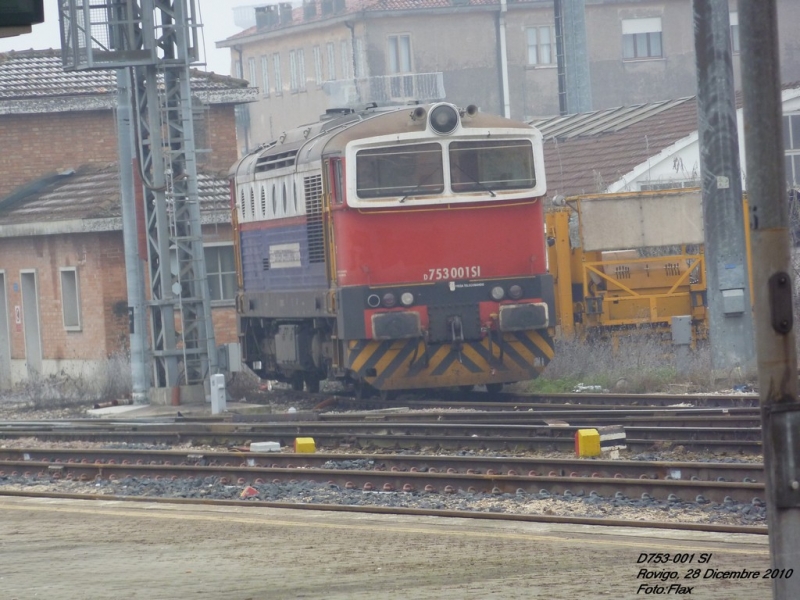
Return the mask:
<svg viewBox="0 0 800 600"><path fill-rule="evenodd" d="M694 0L697 120L713 376L755 367L728 0Z"/></svg>

